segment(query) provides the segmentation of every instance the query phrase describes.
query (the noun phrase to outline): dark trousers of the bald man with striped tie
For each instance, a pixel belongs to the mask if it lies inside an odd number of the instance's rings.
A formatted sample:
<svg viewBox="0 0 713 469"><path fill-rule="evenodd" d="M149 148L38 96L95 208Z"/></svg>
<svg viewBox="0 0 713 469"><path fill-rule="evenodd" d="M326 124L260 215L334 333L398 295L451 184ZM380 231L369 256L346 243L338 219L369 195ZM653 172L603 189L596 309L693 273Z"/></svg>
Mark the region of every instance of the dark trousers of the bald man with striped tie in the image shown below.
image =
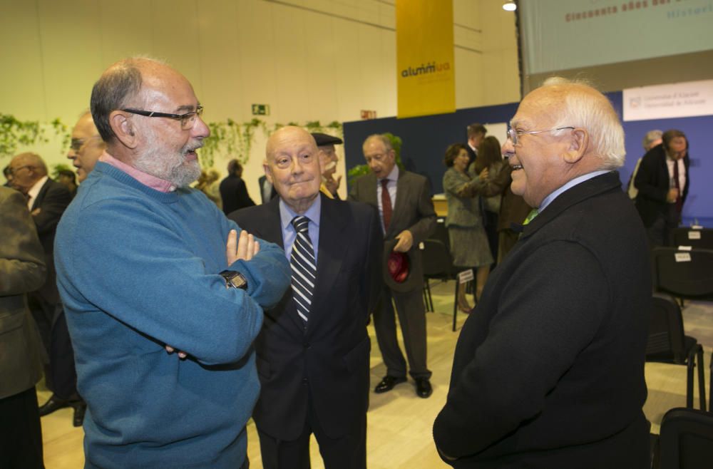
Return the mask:
<svg viewBox="0 0 713 469"><path fill-rule="evenodd" d="M348 406L349 403L344 403ZM310 403L307 422L297 440L282 441L272 438L257 428L260 455L265 469L309 469L309 436L314 433L319 444L325 469L366 469L366 412L352 431L339 438L329 438L319 426Z"/></svg>

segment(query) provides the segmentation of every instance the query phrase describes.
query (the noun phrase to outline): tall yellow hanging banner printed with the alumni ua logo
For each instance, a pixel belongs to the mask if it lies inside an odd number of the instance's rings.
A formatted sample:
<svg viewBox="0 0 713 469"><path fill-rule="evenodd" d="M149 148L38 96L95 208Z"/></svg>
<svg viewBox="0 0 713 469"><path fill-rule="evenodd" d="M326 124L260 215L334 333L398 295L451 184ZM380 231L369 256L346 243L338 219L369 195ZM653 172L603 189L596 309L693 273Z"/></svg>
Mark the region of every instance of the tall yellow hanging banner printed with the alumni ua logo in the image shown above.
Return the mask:
<svg viewBox="0 0 713 469"><path fill-rule="evenodd" d="M396 0L399 118L456 110L453 1Z"/></svg>

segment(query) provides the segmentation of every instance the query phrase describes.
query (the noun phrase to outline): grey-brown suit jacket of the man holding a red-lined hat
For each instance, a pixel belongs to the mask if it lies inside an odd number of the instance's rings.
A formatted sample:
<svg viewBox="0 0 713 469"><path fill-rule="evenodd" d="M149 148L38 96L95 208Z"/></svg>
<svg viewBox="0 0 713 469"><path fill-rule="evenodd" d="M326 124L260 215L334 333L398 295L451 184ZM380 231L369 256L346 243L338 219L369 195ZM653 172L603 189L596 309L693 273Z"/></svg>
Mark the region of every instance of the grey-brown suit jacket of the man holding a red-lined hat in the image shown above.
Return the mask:
<svg viewBox="0 0 713 469"><path fill-rule="evenodd" d="M359 177L349 191L349 200L365 202L379 210L376 200L376 175L370 172ZM379 222L381 227L381 222ZM389 254L396 246L396 234L409 230L414 236L414 244L409 254L409 277L401 283L394 282L389 274L387 262ZM399 170L399 180L396 181L396 204L389 229L384 234L384 257L381 262L381 272L386 286L394 292L414 292L424 287L424 269L421 267L421 251L419 243L436 231L436 211L429 192L429 182L426 177L414 172Z"/></svg>

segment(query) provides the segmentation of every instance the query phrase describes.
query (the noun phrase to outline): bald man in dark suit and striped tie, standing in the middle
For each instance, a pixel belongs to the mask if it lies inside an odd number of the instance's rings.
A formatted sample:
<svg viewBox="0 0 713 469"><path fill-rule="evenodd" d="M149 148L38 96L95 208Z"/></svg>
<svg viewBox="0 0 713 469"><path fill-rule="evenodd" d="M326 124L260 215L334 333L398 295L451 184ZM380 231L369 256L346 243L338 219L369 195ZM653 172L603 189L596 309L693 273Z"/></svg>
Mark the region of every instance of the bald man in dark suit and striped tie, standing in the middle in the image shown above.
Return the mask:
<svg viewBox="0 0 713 469"><path fill-rule="evenodd" d="M255 340L262 465L309 468L314 433L325 468L366 468L366 324L381 259L376 210L320 194L317 145L302 128L272 134L265 174L279 197L229 215L283 247L292 267L292 289L265 311Z"/></svg>

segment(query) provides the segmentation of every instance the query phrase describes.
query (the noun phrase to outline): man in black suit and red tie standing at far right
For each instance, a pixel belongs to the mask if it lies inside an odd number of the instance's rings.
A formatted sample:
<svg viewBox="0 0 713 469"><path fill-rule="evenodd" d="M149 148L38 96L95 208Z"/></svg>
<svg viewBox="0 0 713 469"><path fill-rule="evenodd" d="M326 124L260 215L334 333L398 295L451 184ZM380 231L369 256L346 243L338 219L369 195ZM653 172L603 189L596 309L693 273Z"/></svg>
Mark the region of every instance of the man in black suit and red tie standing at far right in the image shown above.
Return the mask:
<svg viewBox="0 0 713 469"><path fill-rule="evenodd" d="M673 244L673 230L681 222L689 187L686 135L681 130L667 130L662 140L644 155L634 179L639 191L636 208L652 246Z"/></svg>

